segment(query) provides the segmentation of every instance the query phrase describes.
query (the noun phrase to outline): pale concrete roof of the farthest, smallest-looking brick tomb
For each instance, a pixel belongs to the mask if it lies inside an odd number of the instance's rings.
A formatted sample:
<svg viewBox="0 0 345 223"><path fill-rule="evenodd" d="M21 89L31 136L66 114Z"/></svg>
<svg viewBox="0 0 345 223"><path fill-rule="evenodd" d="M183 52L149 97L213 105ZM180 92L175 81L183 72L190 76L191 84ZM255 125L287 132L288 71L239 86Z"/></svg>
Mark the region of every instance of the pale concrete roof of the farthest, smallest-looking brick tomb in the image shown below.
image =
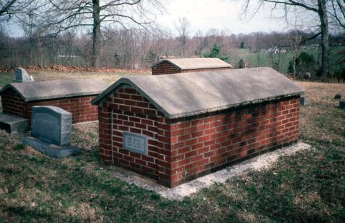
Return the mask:
<svg viewBox="0 0 345 223"><path fill-rule="evenodd" d="M163 61L167 61L170 64L181 68L181 70L192 69L206 69L206 68L231 68L232 66L219 58L181 58L181 59L164 59L158 61L152 66L155 68Z"/></svg>

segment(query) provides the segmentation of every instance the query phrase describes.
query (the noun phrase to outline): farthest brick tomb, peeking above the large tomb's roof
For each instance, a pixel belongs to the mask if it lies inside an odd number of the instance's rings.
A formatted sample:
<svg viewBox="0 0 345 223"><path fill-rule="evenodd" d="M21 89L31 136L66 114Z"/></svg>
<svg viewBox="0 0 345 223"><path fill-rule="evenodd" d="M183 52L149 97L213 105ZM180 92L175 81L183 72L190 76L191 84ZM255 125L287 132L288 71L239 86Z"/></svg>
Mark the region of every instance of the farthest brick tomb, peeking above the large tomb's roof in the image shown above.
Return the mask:
<svg viewBox="0 0 345 223"><path fill-rule="evenodd" d="M152 67L152 75L166 75L180 72L228 70L231 65L219 58L164 59Z"/></svg>

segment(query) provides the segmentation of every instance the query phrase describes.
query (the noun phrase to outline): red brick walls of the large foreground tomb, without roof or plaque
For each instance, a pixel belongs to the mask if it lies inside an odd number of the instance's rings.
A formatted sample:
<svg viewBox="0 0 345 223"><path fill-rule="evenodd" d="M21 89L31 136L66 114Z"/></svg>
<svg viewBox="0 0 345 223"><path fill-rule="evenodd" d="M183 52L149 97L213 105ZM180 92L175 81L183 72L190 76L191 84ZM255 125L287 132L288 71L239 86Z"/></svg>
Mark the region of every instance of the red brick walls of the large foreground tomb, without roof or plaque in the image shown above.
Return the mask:
<svg viewBox="0 0 345 223"><path fill-rule="evenodd" d="M131 88L106 98L99 106L101 158L177 186L295 142L299 98L180 119L163 116ZM150 137L148 156L124 150L124 131Z"/></svg>

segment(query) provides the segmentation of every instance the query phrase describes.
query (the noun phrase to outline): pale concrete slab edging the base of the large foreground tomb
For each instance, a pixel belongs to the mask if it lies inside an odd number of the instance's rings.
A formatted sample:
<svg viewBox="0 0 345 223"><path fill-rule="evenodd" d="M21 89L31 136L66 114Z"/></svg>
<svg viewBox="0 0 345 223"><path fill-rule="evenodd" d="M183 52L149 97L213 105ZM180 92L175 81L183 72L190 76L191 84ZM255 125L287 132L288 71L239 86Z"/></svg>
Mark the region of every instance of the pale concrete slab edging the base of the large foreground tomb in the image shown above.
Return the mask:
<svg viewBox="0 0 345 223"><path fill-rule="evenodd" d="M281 149L277 149L271 153L265 153L252 159L248 159L237 165L229 166L221 171L211 173L204 177L199 177L196 180L190 181L186 184L181 184L175 188L167 188L158 184L155 180L148 177L144 177L131 171L126 171L123 168L116 166L110 166L109 169L114 172L113 176L128 182L135 184L141 188L145 188L150 191L155 191L162 197L166 197L169 200L183 200L184 197L196 193L202 188L207 188L215 183L224 183L226 180L230 180L233 177L243 175L250 171L259 171L262 168L268 168L275 164L278 158L286 155L294 155L298 151L311 150L311 146L302 142L298 142L291 146L286 146Z"/></svg>

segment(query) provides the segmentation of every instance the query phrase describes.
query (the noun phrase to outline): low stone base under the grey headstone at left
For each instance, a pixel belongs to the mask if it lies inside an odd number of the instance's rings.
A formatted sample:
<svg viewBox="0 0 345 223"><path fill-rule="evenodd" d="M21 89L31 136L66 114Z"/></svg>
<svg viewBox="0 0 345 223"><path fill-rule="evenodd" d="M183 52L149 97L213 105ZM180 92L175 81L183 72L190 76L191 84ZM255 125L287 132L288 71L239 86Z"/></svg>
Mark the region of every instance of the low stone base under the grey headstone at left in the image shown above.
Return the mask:
<svg viewBox="0 0 345 223"><path fill-rule="evenodd" d="M22 137L22 142L32 146L34 149L53 158L65 158L72 155L79 155L81 149L76 146L57 146L48 144L34 137Z"/></svg>

